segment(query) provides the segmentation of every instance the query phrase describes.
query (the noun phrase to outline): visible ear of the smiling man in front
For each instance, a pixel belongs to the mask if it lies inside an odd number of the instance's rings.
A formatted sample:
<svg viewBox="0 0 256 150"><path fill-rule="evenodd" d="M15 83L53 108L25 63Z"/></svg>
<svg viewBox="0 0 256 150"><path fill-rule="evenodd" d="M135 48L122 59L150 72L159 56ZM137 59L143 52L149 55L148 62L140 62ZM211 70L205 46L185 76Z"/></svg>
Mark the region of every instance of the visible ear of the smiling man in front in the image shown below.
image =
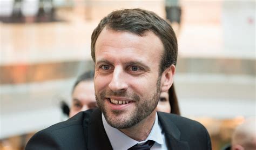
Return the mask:
<svg viewBox="0 0 256 150"><path fill-rule="evenodd" d="M176 67L171 65L161 74L161 92L168 91L172 86L175 69Z"/></svg>

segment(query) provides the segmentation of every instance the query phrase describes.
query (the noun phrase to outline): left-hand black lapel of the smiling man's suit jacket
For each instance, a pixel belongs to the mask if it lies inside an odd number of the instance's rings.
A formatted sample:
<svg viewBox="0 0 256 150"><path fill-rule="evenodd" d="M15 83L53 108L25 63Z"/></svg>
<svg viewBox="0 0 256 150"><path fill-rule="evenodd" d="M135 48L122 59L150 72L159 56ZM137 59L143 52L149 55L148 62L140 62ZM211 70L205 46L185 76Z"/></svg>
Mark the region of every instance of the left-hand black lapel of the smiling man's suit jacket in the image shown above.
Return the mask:
<svg viewBox="0 0 256 150"><path fill-rule="evenodd" d="M87 148L88 149L112 149L109 138L105 132L102 122L102 112L98 108L92 112L87 127Z"/></svg>

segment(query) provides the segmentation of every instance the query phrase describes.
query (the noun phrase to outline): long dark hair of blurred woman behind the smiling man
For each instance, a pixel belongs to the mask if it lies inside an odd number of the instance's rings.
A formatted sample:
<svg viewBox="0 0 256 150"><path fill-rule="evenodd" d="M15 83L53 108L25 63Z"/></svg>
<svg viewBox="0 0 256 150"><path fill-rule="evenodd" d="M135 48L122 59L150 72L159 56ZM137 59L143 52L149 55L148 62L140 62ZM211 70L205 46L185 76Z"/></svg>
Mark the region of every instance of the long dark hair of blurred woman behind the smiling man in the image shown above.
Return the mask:
<svg viewBox="0 0 256 150"><path fill-rule="evenodd" d="M171 106L171 113L180 115L179 103L178 103L178 98L174 88L174 84L172 84L171 88L168 91L168 94L169 94L169 103Z"/></svg>

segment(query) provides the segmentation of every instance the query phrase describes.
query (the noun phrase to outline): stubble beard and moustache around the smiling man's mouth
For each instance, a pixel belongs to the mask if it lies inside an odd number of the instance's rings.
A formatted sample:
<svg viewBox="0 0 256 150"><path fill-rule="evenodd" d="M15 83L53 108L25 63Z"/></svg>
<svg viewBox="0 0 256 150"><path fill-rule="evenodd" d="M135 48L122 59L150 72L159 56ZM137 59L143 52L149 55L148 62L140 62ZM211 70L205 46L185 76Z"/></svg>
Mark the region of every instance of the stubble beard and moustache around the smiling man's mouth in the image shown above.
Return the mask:
<svg viewBox="0 0 256 150"><path fill-rule="evenodd" d="M157 107L160 98L160 77L157 80L156 90L152 93L149 99L140 99L136 93L124 92L112 92L103 91L99 94L95 93L97 104L99 109L103 112L107 123L118 129L130 128L137 125L140 121L148 117ZM105 96L125 96L126 98L132 98L136 106L134 110L127 114L123 114L123 111L118 110L107 110L104 105ZM120 116L123 115L123 116Z"/></svg>

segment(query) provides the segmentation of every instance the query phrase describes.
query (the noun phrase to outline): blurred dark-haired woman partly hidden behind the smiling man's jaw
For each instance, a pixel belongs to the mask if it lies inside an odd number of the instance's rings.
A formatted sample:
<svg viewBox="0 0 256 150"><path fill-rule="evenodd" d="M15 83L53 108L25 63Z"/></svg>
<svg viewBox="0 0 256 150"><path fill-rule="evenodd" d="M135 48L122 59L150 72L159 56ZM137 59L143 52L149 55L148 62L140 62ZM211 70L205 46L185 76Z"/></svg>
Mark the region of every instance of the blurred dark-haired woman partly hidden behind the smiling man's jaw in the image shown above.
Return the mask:
<svg viewBox="0 0 256 150"><path fill-rule="evenodd" d="M180 115L174 84L172 84L168 92L161 92L160 100L157 105L157 111Z"/></svg>

